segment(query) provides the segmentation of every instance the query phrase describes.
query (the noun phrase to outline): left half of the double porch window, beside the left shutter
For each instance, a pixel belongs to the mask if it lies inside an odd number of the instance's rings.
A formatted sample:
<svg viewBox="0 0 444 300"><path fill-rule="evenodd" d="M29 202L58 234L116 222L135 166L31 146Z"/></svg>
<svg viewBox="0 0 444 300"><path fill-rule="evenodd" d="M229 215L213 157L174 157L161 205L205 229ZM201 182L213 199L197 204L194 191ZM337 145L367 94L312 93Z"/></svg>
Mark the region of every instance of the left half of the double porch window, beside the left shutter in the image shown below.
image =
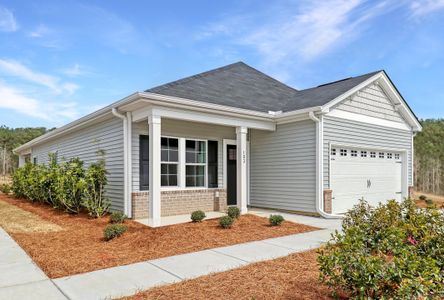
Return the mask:
<svg viewBox="0 0 444 300"><path fill-rule="evenodd" d="M177 186L179 140L162 137L160 145L160 183L162 186Z"/></svg>

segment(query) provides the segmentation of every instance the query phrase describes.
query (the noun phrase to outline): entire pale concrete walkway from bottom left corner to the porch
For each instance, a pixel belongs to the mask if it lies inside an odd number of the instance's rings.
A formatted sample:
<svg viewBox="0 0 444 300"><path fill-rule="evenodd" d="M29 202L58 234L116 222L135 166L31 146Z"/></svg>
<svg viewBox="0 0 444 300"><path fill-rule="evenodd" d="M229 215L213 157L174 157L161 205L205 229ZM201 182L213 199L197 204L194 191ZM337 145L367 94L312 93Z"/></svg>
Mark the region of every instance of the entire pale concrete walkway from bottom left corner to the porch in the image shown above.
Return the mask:
<svg viewBox="0 0 444 300"><path fill-rule="evenodd" d="M268 216L269 210L250 210ZM0 299L110 299L155 286L238 268L318 248L340 220L280 213L286 220L321 230L149 260L50 280L26 253L0 231Z"/></svg>

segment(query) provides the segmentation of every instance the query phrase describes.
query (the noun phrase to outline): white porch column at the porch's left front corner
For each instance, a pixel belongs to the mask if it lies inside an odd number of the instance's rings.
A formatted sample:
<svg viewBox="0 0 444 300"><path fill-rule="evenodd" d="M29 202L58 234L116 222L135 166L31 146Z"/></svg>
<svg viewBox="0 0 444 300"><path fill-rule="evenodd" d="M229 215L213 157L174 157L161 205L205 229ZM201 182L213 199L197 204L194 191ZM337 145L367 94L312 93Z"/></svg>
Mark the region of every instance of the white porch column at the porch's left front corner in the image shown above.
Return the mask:
<svg viewBox="0 0 444 300"><path fill-rule="evenodd" d="M149 225L160 226L160 135L161 117L150 113L149 126Z"/></svg>

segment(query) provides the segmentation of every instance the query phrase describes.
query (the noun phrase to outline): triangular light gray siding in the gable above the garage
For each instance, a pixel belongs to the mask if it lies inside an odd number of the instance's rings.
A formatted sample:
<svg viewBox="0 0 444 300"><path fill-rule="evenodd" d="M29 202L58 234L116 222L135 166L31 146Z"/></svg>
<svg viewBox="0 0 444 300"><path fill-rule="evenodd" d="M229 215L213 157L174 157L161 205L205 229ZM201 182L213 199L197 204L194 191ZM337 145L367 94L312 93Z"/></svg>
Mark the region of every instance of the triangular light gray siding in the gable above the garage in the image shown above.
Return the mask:
<svg viewBox="0 0 444 300"><path fill-rule="evenodd" d="M344 100L334 109L375 117L379 119L403 123L404 119L396 111L395 106L376 84L372 84L354 96Z"/></svg>

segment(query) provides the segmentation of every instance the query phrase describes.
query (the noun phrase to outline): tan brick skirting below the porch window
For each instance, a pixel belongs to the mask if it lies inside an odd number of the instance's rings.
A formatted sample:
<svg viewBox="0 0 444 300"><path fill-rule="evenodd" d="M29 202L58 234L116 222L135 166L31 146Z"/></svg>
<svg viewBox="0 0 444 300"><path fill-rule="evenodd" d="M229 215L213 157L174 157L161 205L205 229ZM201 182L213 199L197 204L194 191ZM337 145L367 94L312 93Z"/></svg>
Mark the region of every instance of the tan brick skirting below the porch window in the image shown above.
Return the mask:
<svg viewBox="0 0 444 300"><path fill-rule="evenodd" d="M174 216L189 214L195 210L224 211L227 207L225 189L198 189L162 191L161 215ZM133 219L145 219L149 216L149 192L131 194Z"/></svg>

